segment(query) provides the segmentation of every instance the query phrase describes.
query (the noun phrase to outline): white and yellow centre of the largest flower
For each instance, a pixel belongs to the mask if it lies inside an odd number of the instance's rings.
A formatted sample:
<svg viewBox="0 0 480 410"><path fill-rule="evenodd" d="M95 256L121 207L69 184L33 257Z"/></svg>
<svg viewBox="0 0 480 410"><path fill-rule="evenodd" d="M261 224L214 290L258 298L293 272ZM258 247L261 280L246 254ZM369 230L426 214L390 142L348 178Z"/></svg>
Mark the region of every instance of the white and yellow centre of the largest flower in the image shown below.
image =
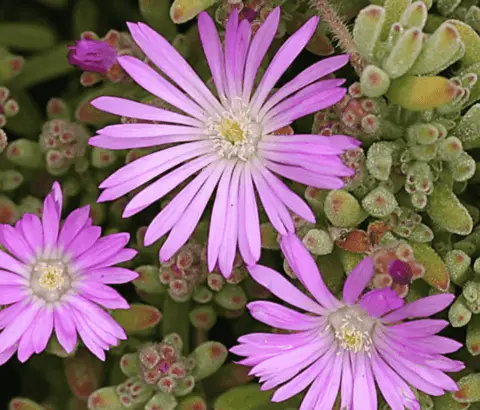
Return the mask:
<svg viewBox="0 0 480 410"><path fill-rule="evenodd" d="M242 161L255 154L262 136L260 124L251 117L246 106L237 106L210 118L205 132L214 141L220 156Z"/></svg>

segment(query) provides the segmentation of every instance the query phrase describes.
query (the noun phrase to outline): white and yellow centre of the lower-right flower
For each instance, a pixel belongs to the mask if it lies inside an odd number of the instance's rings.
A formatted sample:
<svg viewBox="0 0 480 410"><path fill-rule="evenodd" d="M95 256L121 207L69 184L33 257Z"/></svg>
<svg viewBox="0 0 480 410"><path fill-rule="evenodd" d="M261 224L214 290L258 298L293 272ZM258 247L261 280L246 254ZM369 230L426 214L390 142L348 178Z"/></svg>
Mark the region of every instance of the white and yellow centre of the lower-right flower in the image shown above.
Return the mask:
<svg viewBox="0 0 480 410"><path fill-rule="evenodd" d="M372 346L372 331L376 319L357 306L345 306L329 315L335 337L340 346L352 352L366 352L370 354Z"/></svg>

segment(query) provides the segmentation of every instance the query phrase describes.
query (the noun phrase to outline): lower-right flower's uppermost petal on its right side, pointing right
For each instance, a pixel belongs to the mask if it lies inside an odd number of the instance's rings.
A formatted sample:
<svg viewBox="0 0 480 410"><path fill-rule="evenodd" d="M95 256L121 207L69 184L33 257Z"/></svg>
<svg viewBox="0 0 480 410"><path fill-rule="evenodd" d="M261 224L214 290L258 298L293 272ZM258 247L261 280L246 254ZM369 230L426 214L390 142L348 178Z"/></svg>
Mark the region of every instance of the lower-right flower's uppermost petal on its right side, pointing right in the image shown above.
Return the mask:
<svg viewBox="0 0 480 410"><path fill-rule="evenodd" d="M429 317L444 310L454 299L455 295L451 293L427 296L389 313L382 318L382 321L384 323L394 323L409 317Z"/></svg>

